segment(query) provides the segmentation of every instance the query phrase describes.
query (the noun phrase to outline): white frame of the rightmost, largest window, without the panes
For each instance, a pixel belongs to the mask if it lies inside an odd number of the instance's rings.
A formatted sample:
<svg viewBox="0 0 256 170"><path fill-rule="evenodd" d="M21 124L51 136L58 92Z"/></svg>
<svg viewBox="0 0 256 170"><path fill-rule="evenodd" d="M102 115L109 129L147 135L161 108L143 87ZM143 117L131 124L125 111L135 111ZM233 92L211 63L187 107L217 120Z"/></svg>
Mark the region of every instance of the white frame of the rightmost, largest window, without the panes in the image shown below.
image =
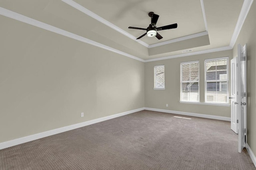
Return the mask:
<svg viewBox="0 0 256 170"><path fill-rule="evenodd" d="M222 60L227 59L227 102L208 102L207 101L207 80L206 80L206 62L207 61L214 61L214 60ZM220 104L220 105L229 105L229 57L218 57L218 58L211 58L211 59L205 59L204 60L204 103L209 104Z"/></svg>

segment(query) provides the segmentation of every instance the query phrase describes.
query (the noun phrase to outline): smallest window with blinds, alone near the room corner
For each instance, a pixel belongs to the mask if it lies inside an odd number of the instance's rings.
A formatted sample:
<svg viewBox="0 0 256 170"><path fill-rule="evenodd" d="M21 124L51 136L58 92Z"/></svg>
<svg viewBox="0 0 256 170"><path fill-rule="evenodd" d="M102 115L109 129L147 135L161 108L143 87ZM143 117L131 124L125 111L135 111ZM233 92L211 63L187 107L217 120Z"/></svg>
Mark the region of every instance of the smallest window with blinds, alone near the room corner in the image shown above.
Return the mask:
<svg viewBox="0 0 256 170"><path fill-rule="evenodd" d="M164 89L164 65L154 67L154 89Z"/></svg>

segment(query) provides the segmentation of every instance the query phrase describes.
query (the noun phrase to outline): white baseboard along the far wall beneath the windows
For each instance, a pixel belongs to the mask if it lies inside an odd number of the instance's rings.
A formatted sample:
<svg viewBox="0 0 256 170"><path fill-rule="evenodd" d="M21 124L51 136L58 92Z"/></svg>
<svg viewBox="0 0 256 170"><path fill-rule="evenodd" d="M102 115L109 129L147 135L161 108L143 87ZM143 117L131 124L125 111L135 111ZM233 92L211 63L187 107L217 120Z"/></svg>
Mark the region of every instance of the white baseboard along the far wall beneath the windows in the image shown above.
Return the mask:
<svg viewBox="0 0 256 170"><path fill-rule="evenodd" d="M154 109L154 108L148 108L145 107L145 110L148 111L157 111L157 112L164 112L164 113L173 113L177 115L186 115L186 116L194 116L194 117L203 117L208 119L217 119L222 121L231 121L230 117L222 117L222 116L214 116L214 115L204 115L204 114L198 114L198 113L189 113L189 112L181 112L181 111L170 111L170 110L164 110L164 109Z"/></svg>

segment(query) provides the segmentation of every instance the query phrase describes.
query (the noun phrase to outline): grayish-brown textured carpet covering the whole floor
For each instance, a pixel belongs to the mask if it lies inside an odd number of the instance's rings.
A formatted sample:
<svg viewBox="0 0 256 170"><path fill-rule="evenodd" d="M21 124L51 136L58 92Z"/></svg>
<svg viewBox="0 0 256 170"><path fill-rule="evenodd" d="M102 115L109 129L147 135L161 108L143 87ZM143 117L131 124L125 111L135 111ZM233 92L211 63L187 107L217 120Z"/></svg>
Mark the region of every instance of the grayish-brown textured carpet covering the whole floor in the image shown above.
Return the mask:
<svg viewBox="0 0 256 170"><path fill-rule="evenodd" d="M191 119L177 118L174 116ZM0 150L2 170L255 170L230 122L140 111Z"/></svg>

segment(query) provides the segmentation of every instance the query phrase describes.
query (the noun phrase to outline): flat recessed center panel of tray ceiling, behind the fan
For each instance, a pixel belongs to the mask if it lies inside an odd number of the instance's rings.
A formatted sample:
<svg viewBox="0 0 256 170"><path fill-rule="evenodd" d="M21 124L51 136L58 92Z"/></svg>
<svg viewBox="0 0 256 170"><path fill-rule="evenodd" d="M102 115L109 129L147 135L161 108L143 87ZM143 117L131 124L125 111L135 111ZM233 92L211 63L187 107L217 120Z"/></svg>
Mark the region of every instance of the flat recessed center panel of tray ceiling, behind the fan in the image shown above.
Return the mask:
<svg viewBox="0 0 256 170"><path fill-rule="evenodd" d="M129 26L147 28L150 24L148 12L160 17L157 26L178 23L178 28L158 33L164 38L143 37L149 45L172 40L191 34L205 32L204 17L200 0L74 0L105 20L132 34L136 38L145 33L143 30L131 30Z"/></svg>

